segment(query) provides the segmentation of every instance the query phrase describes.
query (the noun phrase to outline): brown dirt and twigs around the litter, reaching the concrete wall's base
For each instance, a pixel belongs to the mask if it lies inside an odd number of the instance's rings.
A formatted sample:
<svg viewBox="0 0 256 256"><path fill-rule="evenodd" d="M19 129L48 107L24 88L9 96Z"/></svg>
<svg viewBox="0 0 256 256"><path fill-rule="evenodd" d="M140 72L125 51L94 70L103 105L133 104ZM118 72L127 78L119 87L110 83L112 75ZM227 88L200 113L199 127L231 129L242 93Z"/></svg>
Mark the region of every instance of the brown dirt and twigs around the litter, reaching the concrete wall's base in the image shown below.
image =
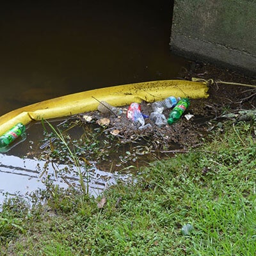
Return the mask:
<svg viewBox="0 0 256 256"><path fill-rule="evenodd" d="M190 100L191 105L184 113L193 115L193 118L189 120L182 116L176 124L158 127L150 118L145 118L145 124L150 124L150 126L139 129L140 124L136 124L126 117L128 106L122 107L123 113L118 117L99 111L84 113L83 115L91 116L92 122L108 118L110 122L109 125L106 125L106 132L118 133L116 136L120 138L122 143L136 142L144 138L150 141L153 151L175 152L175 150L182 151L188 147L200 145L202 143L201 138L210 129L213 129L214 125L220 125L219 122L223 119L223 113L234 113L241 109L255 109L256 107L256 88L218 82L256 84L256 77L247 77L207 63L191 62L191 68L181 70L177 79L191 80L192 77L205 80L212 79L212 83L209 84L209 97L207 99ZM149 116L152 113L151 104L142 102L141 112ZM170 109L166 109L163 113L168 116ZM86 124L83 115L80 115L80 118Z"/></svg>

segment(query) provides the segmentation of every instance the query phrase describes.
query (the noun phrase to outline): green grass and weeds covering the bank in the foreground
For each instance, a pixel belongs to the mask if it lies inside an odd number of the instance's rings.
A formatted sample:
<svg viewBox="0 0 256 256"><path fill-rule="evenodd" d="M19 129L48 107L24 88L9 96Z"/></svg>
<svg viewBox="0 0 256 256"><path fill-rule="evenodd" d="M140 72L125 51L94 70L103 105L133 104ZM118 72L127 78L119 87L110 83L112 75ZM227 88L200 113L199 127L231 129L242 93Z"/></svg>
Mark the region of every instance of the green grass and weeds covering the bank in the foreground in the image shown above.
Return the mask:
<svg viewBox="0 0 256 256"><path fill-rule="evenodd" d="M59 188L32 209L9 200L1 255L255 255L255 142L252 124L227 125L204 146L142 168L136 184L106 191L103 209Z"/></svg>

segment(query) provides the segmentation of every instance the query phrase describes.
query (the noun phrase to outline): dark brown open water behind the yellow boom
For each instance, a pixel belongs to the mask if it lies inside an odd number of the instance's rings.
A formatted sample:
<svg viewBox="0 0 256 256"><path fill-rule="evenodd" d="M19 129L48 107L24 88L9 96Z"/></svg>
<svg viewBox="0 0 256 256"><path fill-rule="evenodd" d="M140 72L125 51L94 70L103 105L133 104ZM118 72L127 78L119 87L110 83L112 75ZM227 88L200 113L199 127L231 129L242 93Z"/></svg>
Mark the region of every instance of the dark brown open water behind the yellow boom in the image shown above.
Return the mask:
<svg viewBox="0 0 256 256"><path fill-rule="evenodd" d="M0 115L117 84L174 79L172 1L5 1Z"/></svg>

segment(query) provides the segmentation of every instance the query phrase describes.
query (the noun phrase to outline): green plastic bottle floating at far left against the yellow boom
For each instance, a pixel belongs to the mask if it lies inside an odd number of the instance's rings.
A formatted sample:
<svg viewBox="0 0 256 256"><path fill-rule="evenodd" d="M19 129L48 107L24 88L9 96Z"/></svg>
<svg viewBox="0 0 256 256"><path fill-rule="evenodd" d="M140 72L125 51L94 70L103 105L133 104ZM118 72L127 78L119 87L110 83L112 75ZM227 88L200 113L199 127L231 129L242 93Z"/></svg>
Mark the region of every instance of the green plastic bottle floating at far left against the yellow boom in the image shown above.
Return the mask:
<svg viewBox="0 0 256 256"><path fill-rule="evenodd" d="M7 147L12 143L14 140L19 138L19 136L22 136L24 132L26 131L26 126L22 123L19 123L12 127L8 132L5 132L0 137L0 150L1 152L8 151Z"/></svg>

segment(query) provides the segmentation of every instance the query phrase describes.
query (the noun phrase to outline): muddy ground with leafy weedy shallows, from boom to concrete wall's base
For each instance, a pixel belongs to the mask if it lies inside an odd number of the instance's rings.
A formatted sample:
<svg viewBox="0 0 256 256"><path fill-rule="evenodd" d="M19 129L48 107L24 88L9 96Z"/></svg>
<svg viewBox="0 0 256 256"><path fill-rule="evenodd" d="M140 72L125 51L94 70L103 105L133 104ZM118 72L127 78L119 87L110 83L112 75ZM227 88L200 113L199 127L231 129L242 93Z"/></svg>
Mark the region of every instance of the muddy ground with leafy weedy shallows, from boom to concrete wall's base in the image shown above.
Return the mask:
<svg viewBox="0 0 256 256"><path fill-rule="evenodd" d="M74 148L79 159L86 159L90 163L94 161L100 170L120 173L123 170L126 172L129 166L147 165L156 159L187 152L191 147L202 145L208 140L210 131L222 129L223 123L229 120L239 120L239 116L234 118L227 115L239 113L244 109L252 110L253 115L245 120L256 122L256 77L207 63L191 62L191 68L180 70L176 79L191 80L192 77L207 81L212 79L209 83L209 97L190 99L189 108L177 123L158 127L153 120L145 118L146 128L140 129L140 123L134 123L126 116L129 106L121 106L122 114L118 116L99 111L81 113L72 118L71 124L80 130L68 135L70 147ZM249 86L223 84L220 81ZM141 102L141 112L144 115L149 116L152 111L150 103ZM167 117L170 109L163 113ZM193 117L187 120L186 114ZM102 121L103 125L100 124ZM57 157L56 150L60 152ZM62 158L62 161L68 163L67 150L63 149L61 141L56 140L39 152L42 160L52 159L58 162ZM60 157L61 154L63 157Z"/></svg>

